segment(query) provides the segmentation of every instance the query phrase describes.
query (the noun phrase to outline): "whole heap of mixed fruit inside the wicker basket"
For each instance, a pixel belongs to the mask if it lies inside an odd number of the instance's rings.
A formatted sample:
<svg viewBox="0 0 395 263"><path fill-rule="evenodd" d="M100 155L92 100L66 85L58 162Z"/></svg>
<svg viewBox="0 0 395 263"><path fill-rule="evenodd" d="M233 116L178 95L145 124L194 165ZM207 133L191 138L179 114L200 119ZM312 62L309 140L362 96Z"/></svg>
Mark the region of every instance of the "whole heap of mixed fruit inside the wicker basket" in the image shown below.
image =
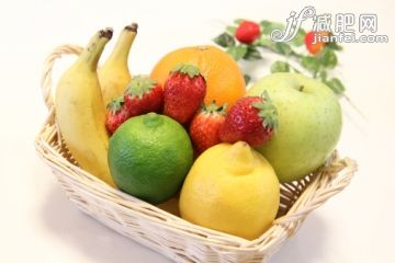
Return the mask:
<svg viewBox="0 0 395 263"><path fill-rule="evenodd" d="M335 149L336 95L287 72L246 91L236 61L214 46L170 52L150 75L132 77L136 34L137 24L126 26L98 69L113 35L99 31L60 78L56 123L69 151L82 169L139 199L174 197L185 220L258 238L276 216L280 183L309 174Z"/></svg>

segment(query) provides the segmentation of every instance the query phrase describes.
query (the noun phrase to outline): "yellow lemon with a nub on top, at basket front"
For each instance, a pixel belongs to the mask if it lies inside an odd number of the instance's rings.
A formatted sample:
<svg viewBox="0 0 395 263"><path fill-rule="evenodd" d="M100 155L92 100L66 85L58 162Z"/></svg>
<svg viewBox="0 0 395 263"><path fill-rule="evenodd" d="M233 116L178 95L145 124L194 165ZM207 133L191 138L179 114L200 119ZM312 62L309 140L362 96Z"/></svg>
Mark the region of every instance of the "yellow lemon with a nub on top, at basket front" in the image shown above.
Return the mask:
<svg viewBox="0 0 395 263"><path fill-rule="evenodd" d="M181 217L248 240L272 224L280 183L271 164L244 141L219 144L192 165L181 190Z"/></svg>

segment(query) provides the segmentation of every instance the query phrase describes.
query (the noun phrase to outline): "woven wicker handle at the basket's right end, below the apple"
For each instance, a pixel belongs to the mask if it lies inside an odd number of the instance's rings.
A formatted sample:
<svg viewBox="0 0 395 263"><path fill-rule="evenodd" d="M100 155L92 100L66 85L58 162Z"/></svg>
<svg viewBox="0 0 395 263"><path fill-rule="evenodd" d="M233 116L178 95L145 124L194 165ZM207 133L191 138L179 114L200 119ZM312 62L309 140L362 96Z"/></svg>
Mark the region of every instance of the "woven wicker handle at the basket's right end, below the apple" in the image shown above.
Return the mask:
<svg viewBox="0 0 395 263"><path fill-rule="evenodd" d="M302 210L295 213L291 211L287 215L275 219L274 225L286 228L289 235L291 236L297 225L303 221L311 211L321 206L330 197L340 193L347 185L349 185L357 169L357 162L349 158L332 162L328 168L323 170L321 176L336 178L323 188L317 190L314 197L304 204L304 208Z"/></svg>

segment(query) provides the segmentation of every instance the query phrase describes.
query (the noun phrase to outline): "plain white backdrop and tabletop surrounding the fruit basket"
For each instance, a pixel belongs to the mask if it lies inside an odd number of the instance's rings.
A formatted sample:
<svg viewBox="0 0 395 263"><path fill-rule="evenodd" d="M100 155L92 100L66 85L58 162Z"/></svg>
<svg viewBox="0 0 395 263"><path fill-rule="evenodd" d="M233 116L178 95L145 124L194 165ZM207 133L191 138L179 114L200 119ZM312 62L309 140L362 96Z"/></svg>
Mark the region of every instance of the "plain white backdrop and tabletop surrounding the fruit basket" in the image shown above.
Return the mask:
<svg viewBox="0 0 395 263"><path fill-rule="evenodd" d="M47 114L41 70L54 46L83 45L98 28L110 25L117 33L137 21L129 65L133 73L147 73L165 53L207 44L235 18L285 21L290 11L306 5L292 2L1 1L0 262L169 262L80 213L36 156L34 137ZM315 7L318 13L376 13L379 34L387 34L391 43L345 45L339 75L366 121L345 104L339 149L358 160L360 171L346 191L308 217L271 262L391 262L395 2L327 0ZM261 75L268 73L268 65L261 62Z"/></svg>

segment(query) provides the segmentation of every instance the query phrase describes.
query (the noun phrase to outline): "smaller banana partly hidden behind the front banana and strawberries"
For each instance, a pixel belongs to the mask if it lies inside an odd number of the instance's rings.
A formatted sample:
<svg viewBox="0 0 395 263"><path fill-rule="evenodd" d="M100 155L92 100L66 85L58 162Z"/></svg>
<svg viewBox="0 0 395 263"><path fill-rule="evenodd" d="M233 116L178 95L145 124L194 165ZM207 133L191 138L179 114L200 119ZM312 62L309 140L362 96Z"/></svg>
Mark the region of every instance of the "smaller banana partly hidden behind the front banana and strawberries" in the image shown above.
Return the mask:
<svg viewBox="0 0 395 263"><path fill-rule="evenodd" d="M102 88L104 105L123 93L131 82L132 76L127 58L137 34L137 24L125 26L115 44L113 52L99 69L99 81Z"/></svg>

